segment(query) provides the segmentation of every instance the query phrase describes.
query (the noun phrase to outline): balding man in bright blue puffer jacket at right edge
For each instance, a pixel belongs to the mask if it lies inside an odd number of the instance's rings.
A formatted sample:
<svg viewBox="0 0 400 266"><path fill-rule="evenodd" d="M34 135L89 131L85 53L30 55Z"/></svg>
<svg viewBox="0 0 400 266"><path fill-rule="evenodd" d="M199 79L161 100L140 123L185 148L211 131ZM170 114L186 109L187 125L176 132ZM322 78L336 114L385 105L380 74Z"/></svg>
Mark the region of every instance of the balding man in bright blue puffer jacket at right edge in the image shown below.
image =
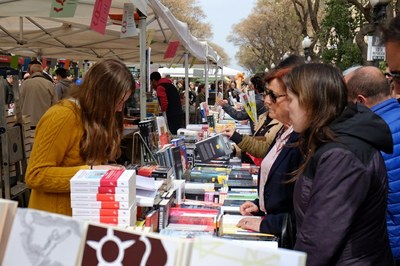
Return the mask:
<svg viewBox="0 0 400 266"><path fill-rule="evenodd" d="M393 256L400 263L400 104L383 73L376 67L361 67L345 76L349 100L369 107L389 125L393 153L382 152L388 171L387 229Z"/></svg>

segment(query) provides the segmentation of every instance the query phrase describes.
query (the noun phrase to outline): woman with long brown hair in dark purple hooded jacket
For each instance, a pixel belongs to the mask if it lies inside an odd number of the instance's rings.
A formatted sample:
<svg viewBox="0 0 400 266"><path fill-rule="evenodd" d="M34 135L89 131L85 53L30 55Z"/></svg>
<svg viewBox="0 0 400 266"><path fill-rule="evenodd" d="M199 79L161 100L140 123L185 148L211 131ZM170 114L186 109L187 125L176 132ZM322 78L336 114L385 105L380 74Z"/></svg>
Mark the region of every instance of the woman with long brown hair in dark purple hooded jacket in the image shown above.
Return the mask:
<svg viewBox="0 0 400 266"><path fill-rule="evenodd" d="M348 103L341 73L306 64L287 76L289 114L305 161L296 171L295 249L307 265L393 265L386 231L387 124Z"/></svg>

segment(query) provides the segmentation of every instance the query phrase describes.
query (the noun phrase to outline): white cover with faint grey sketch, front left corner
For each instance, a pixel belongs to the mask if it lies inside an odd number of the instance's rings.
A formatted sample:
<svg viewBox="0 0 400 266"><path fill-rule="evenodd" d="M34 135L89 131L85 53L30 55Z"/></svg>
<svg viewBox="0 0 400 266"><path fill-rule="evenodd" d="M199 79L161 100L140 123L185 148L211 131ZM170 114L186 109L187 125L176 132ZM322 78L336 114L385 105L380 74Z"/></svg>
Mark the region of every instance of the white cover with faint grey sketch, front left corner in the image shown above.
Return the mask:
<svg viewBox="0 0 400 266"><path fill-rule="evenodd" d="M72 217L19 208L2 265L78 265L85 230Z"/></svg>

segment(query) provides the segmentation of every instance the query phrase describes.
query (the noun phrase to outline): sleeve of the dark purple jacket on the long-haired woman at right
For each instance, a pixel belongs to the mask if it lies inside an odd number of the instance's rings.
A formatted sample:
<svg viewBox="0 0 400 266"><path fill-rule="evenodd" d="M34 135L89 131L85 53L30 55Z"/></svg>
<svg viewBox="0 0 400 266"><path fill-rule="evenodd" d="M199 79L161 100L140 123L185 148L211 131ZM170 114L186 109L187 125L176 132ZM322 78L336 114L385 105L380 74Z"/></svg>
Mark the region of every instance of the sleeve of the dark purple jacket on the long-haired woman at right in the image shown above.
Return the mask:
<svg viewBox="0 0 400 266"><path fill-rule="evenodd" d="M307 253L307 265L335 264L334 256L343 247L357 210L368 193L371 181L366 178L366 172L363 164L343 149L328 150L318 160L309 201L302 203L308 207L301 228L297 228L295 245L296 250ZM309 179L301 178L297 185ZM296 200L302 200L301 191L295 191L295 203Z"/></svg>

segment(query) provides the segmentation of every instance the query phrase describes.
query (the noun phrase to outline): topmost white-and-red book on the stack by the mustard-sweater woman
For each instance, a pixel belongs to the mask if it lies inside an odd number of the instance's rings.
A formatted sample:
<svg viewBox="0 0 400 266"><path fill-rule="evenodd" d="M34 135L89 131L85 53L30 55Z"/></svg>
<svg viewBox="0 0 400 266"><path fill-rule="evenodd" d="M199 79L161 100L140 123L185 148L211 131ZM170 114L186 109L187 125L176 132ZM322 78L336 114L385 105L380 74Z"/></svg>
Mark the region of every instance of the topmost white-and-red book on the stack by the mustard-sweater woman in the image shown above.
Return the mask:
<svg viewBox="0 0 400 266"><path fill-rule="evenodd" d="M135 187L135 170L79 170L71 178L71 187Z"/></svg>

